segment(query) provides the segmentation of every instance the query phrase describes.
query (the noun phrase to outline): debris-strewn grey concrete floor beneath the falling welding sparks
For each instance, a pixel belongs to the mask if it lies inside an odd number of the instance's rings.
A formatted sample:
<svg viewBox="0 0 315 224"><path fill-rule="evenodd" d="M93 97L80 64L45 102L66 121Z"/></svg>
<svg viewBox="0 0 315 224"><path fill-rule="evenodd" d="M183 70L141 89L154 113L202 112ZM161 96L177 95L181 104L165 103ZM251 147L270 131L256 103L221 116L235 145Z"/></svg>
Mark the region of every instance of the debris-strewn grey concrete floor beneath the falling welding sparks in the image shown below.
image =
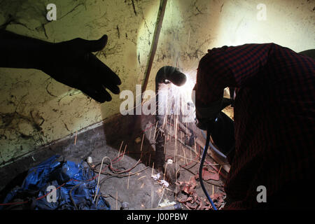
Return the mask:
<svg viewBox="0 0 315 224"><path fill-rule="evenodd" d="M37 154L15 162L8 169L2 169L3 183L6 183L8 190L8 186L14 185L13 176L18 176L54 154L61 154L66 160L74 162L90 157L91 167L97 174L104 159L99 183L111 210L121 209L123 204L127 205L125 209L174 209L174 204L181 209L212 209L197 176L203 149L198 144L182 144L187 143L184 132L176 133L178 139L174 135L172 137L172 128L169 133L165 141L165 158L173 160L168 166L174 167L179 174L175 175L175 183L163 173L159 173L159 180L152 177L158 174L154 167L155 137L160 134L155 130L153 116L118 116L94 130L73 134L66 141L46 146ZM218 209L221 209L225 204L223 183L226 172L209 155L206 161L204 186ZM162 185L163 180L168 181L169 186ZM3 190L2 197L4 193Z"/></svg>

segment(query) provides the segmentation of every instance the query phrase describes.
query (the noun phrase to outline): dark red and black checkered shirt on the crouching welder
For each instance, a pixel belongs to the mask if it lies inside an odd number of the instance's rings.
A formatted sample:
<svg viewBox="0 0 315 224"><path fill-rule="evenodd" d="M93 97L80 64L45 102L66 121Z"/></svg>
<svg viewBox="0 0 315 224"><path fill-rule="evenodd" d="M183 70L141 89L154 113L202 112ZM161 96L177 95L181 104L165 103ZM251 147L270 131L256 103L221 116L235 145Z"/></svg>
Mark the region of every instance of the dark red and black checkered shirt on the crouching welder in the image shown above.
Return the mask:
<svg viewBox="0 0 315 224"><path fill-rule="evenodd" d="M200 60L196 108L237 88L228 208L299 207L314 199L314 76L314 59L274 43L214 48ZM257 202L258 186L267 189L267 203Z"/></svg>

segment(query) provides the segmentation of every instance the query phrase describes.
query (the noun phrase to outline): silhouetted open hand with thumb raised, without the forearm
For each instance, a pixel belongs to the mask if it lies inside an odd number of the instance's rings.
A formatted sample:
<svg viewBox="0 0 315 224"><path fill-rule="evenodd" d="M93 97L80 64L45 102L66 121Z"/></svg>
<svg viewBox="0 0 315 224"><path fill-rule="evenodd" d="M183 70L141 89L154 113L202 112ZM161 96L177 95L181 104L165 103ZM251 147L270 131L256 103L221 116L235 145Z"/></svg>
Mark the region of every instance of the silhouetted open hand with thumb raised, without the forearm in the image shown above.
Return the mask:
<svg viewBox="0 0 315 224"><path fill-rule="evenodd" d="M45 55L41 70L58 82L81 90L97 102L109 102L111 94L106 89L119 94L120 78L92 54L102 50L106 43L106 35L96 41L75 38L55 43L49 55Z"/></svg>

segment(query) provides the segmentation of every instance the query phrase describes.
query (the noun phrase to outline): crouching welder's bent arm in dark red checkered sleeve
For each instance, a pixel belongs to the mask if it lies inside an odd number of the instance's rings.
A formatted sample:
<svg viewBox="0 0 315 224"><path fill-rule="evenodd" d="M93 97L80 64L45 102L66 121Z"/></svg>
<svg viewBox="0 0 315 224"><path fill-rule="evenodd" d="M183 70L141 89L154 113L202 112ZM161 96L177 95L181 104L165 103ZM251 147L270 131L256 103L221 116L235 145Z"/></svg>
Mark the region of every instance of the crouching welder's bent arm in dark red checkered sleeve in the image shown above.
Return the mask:
<svg viewBox="0 0 315 224"><path fill-rule="evenodd" d="M272 43L223 46L209 50L197 70L195 85L196 117L206 127L223 109L225 87L252 85L265 66Z"/></svg>

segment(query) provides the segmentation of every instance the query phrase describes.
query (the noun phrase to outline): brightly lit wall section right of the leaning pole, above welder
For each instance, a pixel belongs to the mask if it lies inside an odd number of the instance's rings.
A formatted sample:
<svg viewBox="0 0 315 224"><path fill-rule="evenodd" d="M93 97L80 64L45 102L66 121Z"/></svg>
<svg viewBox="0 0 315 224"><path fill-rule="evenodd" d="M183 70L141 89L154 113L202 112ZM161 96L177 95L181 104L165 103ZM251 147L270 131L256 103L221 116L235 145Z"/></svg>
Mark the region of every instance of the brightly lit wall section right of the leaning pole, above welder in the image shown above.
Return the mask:
<svg viewBox="0 0 315 224"><path fill-rule="evenodd" d="M171 0L151 73L167 63L195 78L202 55L223 45L273 42L297 52L315 48L314 21L314 0ZM153 76L148 86L154 89Z"/></svg>

